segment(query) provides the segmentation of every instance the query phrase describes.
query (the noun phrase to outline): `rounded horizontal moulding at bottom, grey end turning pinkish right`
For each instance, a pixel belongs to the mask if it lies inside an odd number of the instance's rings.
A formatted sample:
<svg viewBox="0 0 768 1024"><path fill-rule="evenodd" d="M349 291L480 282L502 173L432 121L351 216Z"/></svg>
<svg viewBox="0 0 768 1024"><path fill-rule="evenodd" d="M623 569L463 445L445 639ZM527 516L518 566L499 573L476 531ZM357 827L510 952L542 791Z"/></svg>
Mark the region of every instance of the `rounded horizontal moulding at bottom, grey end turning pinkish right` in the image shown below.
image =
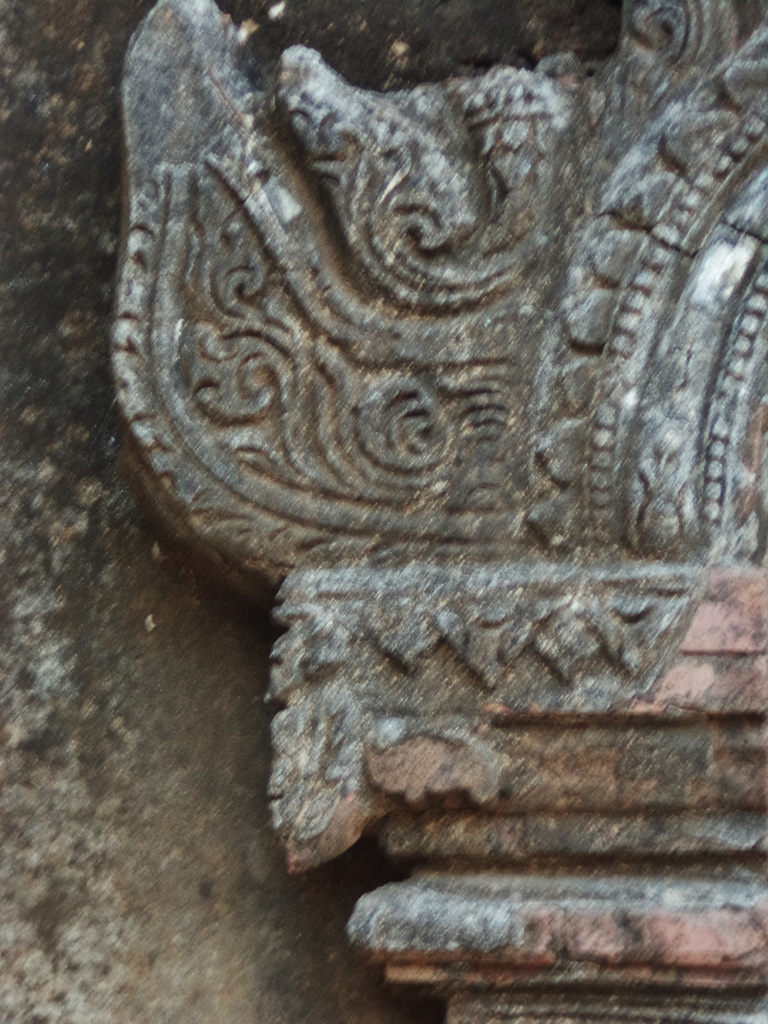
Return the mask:
<svg viewBox="0 0 768 1024"><path fill-rule="evenodd" d="M515 976L558 986L612 977L693 986L765 981L768 904L760 886L632 877L422 874L364 896L349 933L390 975ZM497 981L498 983L498 981Z"/></svg>

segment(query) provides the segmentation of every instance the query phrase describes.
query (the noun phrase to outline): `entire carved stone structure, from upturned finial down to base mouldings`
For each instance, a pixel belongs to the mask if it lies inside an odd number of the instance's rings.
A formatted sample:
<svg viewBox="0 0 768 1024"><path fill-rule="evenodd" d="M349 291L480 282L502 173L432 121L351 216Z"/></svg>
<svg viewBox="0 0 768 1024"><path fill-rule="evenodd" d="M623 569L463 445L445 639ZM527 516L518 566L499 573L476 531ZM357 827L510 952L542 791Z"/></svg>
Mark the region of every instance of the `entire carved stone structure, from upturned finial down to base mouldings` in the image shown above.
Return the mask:
<svg viewBox="0 0 768 1024"><path fill-rule="evenodd" d="M127 59L136 479L283 584L289 864L386 818L474 865L350 926L394 980L517 993L455 1024L607 1019L546 992L583 980L616 1020L766 1012L768 12L626 6L594 75L378 94L293 47L262 79L213 0L161 0Z"/></svg>

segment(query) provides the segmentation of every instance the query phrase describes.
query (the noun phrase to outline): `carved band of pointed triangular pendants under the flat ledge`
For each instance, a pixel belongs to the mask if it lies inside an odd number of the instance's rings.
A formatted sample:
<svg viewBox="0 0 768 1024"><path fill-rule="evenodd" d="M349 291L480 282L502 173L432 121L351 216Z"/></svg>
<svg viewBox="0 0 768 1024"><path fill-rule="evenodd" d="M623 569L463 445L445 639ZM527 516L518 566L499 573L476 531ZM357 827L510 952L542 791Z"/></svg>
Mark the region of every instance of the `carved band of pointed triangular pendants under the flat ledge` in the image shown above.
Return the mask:
<svg viewBox="0 0 768 1024"><path fill-rule="evenodd" d="M479 692L514 680L515 663L526 649L535 650L542 670L548 666L563 683L584 672L594 676L594 660L599 671L634 678L643 671L630 636L642 620L639 606L645 602L643 615L654 602L668 606L654 620L660 660L665 643L659 636L682 628L680 616L701 573L693 566L625 568L626 580L621 571L590 572L565 564L528 572L488 566L438 570L435 575L434 566L423 564L416 573L293 573L278 598L274 617L289 629L272 650L269 696L287 700L296 690L322 683L329 673L357 664L362 648L378 651L399 672L411 674L441 642L469 670ZM625 604L627 610L621 610ZM589 654L589 668L570 656L572 631L585 633L593 646L599 640L600 652ZM562 640L558 632L564 634Z"/></svg>

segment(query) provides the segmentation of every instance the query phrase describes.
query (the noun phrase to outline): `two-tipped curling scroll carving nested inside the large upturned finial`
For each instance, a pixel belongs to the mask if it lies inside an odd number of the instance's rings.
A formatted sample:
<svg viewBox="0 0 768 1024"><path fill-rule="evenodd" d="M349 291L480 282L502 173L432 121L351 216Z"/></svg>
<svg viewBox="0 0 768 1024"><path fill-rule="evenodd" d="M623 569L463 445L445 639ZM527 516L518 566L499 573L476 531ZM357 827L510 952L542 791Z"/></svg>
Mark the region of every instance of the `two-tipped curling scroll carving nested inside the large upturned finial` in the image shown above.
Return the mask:
<svg viewBox="0 0 768 1024"><path fill-rule="evenodd" d="M516 245L528 240L530 254L545 244L532 207L555 185L571 90L500 68L480 83L382 96L293 47L275 104L355 266L396 301L456 306L509 290L523 258Z"/></svg>

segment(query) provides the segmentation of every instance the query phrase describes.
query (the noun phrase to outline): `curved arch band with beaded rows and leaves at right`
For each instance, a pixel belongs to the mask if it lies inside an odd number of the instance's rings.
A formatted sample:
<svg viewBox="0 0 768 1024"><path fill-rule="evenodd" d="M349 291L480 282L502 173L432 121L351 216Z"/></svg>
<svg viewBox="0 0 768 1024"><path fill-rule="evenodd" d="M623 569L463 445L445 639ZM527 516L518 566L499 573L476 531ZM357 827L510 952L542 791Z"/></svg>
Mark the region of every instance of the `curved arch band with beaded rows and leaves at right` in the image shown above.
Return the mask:
<svg viewBox="0 0 768 1024"><path fill-rule="evenodd" d="M550 545L574 544L587 532L651 555L688 544L723 547L717 531L698 524L710 501L709 483L695 471L706 444L702 408L710 400L701 380L727 357L730 302L745 287L759 288L765 232L745 221L734 230L732 210L749 206L759 187L765 112L759 91L744 89L736 115L726 82L738 77L739 67L754 68L757 79L763 35L756 32L716 72L719 90L689 93L684 113L673 103L645 129L603 187L600 216L583 229L545 386L554 386L555 408L562 409L562 425L548 436L567 429L590 455L583 475L552 477L570 492L555 499L572 516L570 536L552 535L552 499L530 514ZM679 340L683 331L686 344ZM711 335L720 339L718 346L703 344ZM590 395L577 421L572 400L556 383L571 372L588 381L583 387ZM622 469L633 459L634 478L624 482Z"/></svg>

